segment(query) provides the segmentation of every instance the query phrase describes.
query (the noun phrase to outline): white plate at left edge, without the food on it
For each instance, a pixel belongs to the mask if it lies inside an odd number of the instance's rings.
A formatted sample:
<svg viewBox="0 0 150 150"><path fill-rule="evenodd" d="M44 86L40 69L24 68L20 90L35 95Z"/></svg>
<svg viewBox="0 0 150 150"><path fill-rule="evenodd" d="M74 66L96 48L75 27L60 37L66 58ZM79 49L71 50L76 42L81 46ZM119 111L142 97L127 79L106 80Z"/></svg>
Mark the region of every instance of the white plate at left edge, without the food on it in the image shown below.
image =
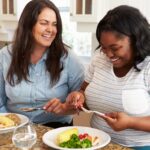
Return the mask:
<svg viewBox="0 0 150 150"><path fill-rule="evenodd" d="M0 116L5 116L7 114L11 114L11 113L0 113ZM18 125L18 126L23 126L25 124L27 124L29 122L29 118L24 116L24 115L21 115L21 114L16 114L19 116L19 118L21 119L21 123ZM0 133L6 133L6 132L10 132L12 130L14 130L16 127L18 126L12 126L12 127L8 127L8 128L2 128L0 129Z"/></svg>

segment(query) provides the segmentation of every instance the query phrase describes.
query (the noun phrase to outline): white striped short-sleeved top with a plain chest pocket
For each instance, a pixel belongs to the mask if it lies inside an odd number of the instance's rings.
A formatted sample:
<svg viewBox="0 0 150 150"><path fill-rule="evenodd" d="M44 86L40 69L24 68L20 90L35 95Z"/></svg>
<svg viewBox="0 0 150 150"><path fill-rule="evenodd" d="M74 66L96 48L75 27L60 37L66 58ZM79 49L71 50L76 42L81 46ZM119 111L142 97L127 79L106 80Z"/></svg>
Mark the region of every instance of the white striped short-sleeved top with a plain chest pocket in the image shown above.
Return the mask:
<svg viewBox="0 0 150 150"><path fill-rule="evenodd" d="M90 83L85 90L87 106L103 113L125 111L133 116L150 115L150 57L138 64L138 68L140 72L131 68L124 77L119 78L114 74L112 63L106 55L96 51L85 77L85 81ZM128 97L123 97L123 92L132 90L132 96L136 96L136 99L129 101ZM132 129L116 132L96 115L92 116L91 126L107 132L113 142L124 146L150 145L149 132Z"/></svg>

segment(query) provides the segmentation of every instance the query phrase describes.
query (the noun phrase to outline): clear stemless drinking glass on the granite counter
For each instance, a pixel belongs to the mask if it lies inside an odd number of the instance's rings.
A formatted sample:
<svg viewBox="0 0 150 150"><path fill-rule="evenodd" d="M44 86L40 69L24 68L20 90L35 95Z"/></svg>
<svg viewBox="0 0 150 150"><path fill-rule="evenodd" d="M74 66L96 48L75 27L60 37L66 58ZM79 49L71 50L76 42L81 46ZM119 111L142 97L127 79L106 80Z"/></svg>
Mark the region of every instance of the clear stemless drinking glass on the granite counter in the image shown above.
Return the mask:
<svg viewBox="0 0 150 150"><path fill-rule="evenodd" d="M32 123L17 127L12 136L13 144L21 150L29 150L37 139L36 131Z"/></svg>

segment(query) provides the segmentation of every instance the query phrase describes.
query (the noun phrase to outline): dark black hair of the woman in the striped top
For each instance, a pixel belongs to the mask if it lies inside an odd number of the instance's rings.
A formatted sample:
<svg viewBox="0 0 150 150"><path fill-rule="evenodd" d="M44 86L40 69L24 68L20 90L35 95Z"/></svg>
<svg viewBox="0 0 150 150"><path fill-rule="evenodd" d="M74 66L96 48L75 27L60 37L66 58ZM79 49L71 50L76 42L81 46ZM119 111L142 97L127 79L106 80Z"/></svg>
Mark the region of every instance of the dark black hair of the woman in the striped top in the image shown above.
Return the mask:
<svg viewBox="0 0 150 150"><path fill-rule="evenodd" d="M110 11L98 23L96 38L99 42L103 31L117 32L128 36L133 48L134 67L150 55L150 26L146 18L134 7L121 5Z"/></svg>

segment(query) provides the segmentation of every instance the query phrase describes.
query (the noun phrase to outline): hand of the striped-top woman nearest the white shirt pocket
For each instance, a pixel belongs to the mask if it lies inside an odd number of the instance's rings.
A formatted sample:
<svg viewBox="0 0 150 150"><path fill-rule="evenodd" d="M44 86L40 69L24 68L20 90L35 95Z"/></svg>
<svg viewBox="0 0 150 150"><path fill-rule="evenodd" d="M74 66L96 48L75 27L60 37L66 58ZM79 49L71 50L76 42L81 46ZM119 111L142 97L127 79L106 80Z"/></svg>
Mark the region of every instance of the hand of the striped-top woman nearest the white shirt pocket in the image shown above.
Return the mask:
<svg viewBox="0 0 150 150"><path fill-rule="evenodd" d="M101 116L107 124L115 131L122 131L128 129L130 126L130 122L132 121L132 117L128 116L123 112L112 112L105 114L105 116Z"/></svg>

